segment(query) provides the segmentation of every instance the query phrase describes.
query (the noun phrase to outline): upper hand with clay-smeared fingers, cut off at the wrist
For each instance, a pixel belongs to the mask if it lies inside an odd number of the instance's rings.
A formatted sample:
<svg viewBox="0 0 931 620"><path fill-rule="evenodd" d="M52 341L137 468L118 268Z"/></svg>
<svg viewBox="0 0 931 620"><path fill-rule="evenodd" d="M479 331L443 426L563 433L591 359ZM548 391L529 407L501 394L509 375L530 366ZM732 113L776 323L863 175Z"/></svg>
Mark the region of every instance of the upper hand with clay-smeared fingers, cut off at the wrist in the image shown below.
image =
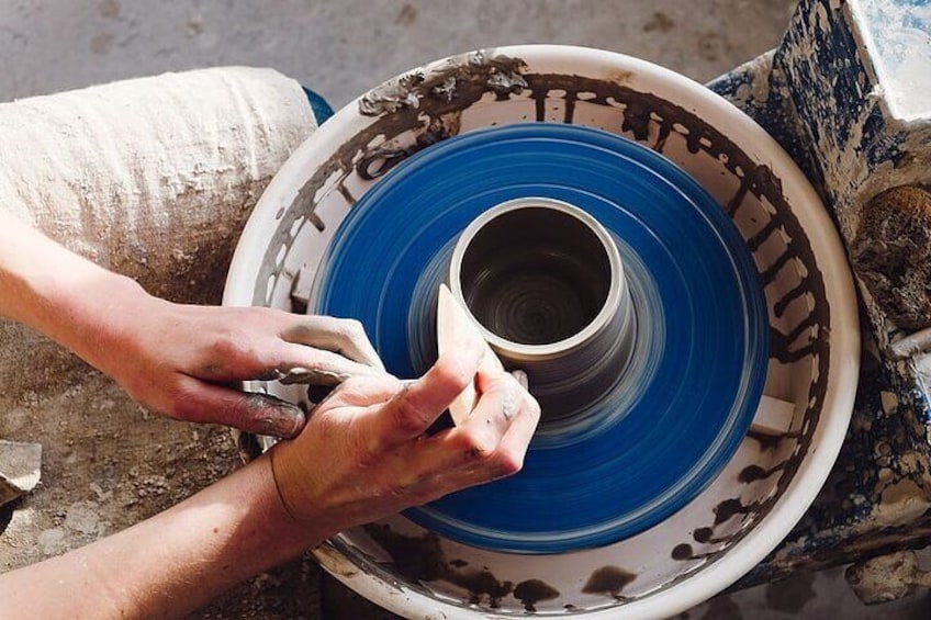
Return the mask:
<svg viewBox="0 0 931 620"><path fill-rule="evenodd" d="M133 398L176 419L294 437L305 421L299 407L228 384L335 385L350 376L384 374L356 320L181 305L143 295L113 316L92 363Z"/></svg>

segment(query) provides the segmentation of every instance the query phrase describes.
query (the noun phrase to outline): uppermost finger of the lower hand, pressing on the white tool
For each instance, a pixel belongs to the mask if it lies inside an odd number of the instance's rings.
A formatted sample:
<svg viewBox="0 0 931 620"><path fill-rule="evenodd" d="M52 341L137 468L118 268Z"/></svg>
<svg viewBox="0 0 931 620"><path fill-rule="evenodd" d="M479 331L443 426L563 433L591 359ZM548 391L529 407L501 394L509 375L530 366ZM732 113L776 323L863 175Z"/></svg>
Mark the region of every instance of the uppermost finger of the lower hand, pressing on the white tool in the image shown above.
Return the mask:
<svg viewBox="0 0 931 620"><path fill-rule="evenodd" d="M372 436L391 446L423 435L472 384L483 354L481 341L444 352L424 376L405 383L379 410Z"/></svg>

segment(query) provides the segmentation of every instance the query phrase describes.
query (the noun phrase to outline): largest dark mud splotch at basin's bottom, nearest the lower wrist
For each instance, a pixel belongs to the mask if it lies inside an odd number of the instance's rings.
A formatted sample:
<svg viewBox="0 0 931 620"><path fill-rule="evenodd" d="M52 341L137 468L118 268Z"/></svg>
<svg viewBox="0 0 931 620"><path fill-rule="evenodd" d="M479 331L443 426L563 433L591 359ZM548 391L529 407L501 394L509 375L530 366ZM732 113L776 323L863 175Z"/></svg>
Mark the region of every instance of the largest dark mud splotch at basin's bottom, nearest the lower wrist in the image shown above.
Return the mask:
<svg viewBox="0 0 931 620"><path fill-rule="evenodd" d="M391 555L397 573L411 582L448 582L468 590L469 602L486 602L492 609L501 607L501 599L514 590L514 584L498 580L487 568L462 571L461 566L448 563L439 537L433 532L408 537L378 523L364 529Z"/></svg>

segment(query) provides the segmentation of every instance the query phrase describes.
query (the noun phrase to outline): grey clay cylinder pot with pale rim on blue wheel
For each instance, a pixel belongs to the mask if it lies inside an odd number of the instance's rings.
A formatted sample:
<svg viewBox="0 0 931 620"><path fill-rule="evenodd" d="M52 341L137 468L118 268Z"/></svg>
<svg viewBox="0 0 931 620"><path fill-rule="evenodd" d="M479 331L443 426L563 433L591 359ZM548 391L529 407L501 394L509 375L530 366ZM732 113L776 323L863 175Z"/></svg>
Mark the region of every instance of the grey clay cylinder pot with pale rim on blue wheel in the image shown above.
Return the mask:
<svg viewBox="0 0 931 620"><path fill-rule="evenodd" d="M635 338L617 246L586 212L543 198L507 201L460 236L449 282L508 368L527 373L543 420L607 394Z"/></svg>

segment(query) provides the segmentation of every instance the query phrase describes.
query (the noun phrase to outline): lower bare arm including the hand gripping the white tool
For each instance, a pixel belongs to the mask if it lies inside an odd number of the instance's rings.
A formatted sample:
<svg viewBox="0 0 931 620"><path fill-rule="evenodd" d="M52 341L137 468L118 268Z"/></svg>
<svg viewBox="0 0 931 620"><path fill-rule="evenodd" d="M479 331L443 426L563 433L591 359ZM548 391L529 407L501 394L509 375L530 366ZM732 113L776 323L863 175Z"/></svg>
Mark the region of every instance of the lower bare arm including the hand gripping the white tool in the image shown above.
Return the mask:
<svg viewBox="0 0 931 620"><path fill-rule="evenodd" d="M338 530L518 471L539 408L460 348L419 381L347 381L307 427L229 477L127 530L0 575L16 618L167 618ZM475 379L467 421L426 429ZM378 466L373 466L373 465Z"/></svg>

